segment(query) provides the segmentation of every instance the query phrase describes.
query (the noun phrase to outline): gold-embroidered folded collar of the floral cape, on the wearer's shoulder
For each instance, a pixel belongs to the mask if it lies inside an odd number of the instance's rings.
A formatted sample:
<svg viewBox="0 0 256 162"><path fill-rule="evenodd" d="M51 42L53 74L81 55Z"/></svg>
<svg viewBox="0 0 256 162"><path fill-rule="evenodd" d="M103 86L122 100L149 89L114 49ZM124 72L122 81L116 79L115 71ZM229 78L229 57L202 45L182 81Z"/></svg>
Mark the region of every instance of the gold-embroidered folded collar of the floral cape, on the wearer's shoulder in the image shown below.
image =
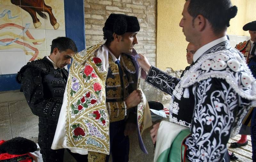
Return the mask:
<svg viewBox="0 0 256 162"><path fill-rule="evenodd" d="M77 52L74 56L73 59L76 63L78 64L83 64L85 60L87 60L96 50L100 48L102 44L105 42L100 42L96 45L93 45L85 50L82 50L80 52Z"/></svg>

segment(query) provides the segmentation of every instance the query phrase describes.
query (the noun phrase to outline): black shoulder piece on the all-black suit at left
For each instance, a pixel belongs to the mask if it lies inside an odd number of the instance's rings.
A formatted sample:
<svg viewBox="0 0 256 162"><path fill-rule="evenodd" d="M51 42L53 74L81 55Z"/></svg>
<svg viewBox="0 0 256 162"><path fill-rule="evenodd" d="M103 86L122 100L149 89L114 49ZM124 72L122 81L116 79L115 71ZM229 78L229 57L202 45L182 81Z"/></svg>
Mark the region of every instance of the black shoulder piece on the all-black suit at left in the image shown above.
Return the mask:
<svg viewBox="0 0 256 162"><path fill-rule="evenodd" d="M23 66L18 72L18 74L16 75L16 81L18 83L21 83L20 81L21 81L22 73L24 73L27 68L38 69L42 71L42 73L47 73L48 71L48 68L42 59L28 62L27 65Z"/></svg>

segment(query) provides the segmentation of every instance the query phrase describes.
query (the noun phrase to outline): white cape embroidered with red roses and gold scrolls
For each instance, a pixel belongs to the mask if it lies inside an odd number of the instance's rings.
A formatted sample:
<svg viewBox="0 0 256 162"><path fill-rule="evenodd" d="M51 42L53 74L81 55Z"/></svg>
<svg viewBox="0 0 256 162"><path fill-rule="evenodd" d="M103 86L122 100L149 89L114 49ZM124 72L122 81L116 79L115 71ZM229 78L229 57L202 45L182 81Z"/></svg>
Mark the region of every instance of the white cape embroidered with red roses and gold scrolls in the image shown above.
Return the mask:
<svg viewBox="0 0 256 162"><path fill-rule="evenodd" d="M137 54L135 50L133 54ZM87 151L109 154L110 120L105 92L108 56L107 47L100 42L73 57L52 149L68 148L79 154L87 154ZM140 70L136 69L136 72L140 78ZM137 130L140 148L147 153L141 133L152 122L144 94L143 98L144 102L137 109L137 126L140 128ZM120 106L125 107L123 104Z"/></svg>

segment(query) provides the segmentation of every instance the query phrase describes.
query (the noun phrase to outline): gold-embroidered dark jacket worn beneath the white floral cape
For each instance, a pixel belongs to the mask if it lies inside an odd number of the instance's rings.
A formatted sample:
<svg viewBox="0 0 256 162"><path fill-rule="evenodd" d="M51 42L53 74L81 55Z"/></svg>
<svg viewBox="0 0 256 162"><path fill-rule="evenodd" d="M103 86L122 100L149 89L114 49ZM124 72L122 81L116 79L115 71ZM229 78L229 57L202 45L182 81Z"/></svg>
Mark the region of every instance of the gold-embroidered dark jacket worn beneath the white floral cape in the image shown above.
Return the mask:
<svg viewBox="0 0 256 162"><path fill-rule="evenodd" d="M119 75L119 69L111 55L108 56L108 74L106 79L106 102L110 122L125 118L124 99L137 89L136 69L131 58L121 54L120 65L123 73L123 83Z"/></svg>

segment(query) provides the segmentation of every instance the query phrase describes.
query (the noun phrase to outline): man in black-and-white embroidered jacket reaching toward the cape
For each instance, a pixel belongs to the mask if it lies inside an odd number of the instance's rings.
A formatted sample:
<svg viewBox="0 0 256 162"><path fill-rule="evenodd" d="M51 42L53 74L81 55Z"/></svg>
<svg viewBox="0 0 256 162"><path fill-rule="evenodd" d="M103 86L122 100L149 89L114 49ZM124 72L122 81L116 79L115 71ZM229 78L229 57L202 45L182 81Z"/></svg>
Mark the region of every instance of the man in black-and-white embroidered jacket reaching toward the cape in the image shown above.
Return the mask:
<svg viewBox="0 0 256 162"><path fill-rule="evenodd" d="M187 160L229 160L228 139L238 133L242 119L250 106L255 106L256 99L252 90L256 88L255 79L244 57L230 47L226 37L229 20L236 13L237 8L230 0L186 0L180 27L186 40L195 44L198 50L193 56L194 62L180 80L150 66L140 55L138 62L148 72L145 81L172 95L171 122L162 121L151 130L156 148L165 139L162 132L169 130L162 126L175 123L175 127L190 128L183 138ZM155 161L160 157L155 155Z"/></svg>

